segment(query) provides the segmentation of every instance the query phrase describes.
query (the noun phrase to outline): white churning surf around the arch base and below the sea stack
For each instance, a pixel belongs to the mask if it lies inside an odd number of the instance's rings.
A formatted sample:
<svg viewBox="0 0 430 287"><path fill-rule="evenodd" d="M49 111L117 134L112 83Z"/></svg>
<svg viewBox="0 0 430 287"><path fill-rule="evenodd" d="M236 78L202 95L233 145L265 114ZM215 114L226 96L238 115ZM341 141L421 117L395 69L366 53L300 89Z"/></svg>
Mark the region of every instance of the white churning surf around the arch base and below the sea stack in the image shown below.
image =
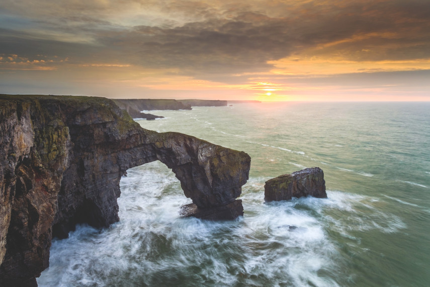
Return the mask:
<svg viewBox="0 0 430 287"><path fill-rule="evenodd" d="M319 274L335 273L338 262L320 219L289 203L264 204L265 178L244 186L245 216L231 222L180 218L189 199L174 178L159 162L129 169L120 183L121 221L102 230L78 226L54 240L39 286L338 285Z"/></svg>

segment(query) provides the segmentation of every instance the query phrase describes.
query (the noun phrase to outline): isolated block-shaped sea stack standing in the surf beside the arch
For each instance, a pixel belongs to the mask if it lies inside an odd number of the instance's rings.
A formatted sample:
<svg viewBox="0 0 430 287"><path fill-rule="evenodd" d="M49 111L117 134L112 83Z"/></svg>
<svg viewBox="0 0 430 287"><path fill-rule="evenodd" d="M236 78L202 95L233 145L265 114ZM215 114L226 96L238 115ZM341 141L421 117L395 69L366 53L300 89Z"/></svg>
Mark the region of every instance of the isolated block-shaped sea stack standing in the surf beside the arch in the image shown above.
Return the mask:
<svg viewBox="0 0 430 287"><path fill-rule="evenodd" d="M292 197L327 197L324 172L318 168L307 168L292 174L284 174L266 181L264 186L266 201L289 200Z"/></svg>

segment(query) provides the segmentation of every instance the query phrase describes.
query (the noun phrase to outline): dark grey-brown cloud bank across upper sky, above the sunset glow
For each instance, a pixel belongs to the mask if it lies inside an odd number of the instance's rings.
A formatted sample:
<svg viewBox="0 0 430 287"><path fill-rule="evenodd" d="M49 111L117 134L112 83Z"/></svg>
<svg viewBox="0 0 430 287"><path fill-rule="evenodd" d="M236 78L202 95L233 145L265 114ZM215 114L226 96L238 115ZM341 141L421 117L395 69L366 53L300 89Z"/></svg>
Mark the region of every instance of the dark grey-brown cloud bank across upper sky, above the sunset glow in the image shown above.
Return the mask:
<svg viewBox="0 0 430 287"><path fill-rule="evenodd" d="M309 56L354 61L430 58L428 1L5 4L3 15L17 21L3 21L0 53L63 55L69 63L120 61L213 79L267 71L273 67L267 61L310 48ZM149 12L133 18L129 6ZM121 13L132 21L116 18ZM24 29L25 23L32 25Z"/></svg>

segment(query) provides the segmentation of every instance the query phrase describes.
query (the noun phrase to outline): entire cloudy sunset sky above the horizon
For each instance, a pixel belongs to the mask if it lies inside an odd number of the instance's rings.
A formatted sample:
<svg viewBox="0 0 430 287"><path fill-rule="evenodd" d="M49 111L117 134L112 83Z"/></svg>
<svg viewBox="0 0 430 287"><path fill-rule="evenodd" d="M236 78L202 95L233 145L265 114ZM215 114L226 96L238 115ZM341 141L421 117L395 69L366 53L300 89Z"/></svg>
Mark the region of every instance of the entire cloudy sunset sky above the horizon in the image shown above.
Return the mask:
<svg viewBox="0 0 430 287"><path fill-rule="evenodd" d="M1 0L0 93L430 101L430 0Z"/></svg>

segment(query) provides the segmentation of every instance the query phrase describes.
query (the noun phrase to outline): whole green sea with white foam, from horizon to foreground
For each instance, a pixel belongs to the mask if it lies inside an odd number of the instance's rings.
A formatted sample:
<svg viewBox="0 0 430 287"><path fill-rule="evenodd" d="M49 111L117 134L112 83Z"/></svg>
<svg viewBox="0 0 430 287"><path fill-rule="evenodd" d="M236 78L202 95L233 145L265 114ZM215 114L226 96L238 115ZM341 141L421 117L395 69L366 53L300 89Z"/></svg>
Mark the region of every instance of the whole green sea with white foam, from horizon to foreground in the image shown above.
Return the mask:
<svg viewBox="0 0 430 287"><path fill-rule="evenodd" d="M120 221L54 239L39 286L428 286L430 104L272 102L150 111L251 157L244 216L181 218L160 162L121 179ZM320 167L328 198L264 201L265 181ZM295 226L291 230L288 226Z"/></svg>

